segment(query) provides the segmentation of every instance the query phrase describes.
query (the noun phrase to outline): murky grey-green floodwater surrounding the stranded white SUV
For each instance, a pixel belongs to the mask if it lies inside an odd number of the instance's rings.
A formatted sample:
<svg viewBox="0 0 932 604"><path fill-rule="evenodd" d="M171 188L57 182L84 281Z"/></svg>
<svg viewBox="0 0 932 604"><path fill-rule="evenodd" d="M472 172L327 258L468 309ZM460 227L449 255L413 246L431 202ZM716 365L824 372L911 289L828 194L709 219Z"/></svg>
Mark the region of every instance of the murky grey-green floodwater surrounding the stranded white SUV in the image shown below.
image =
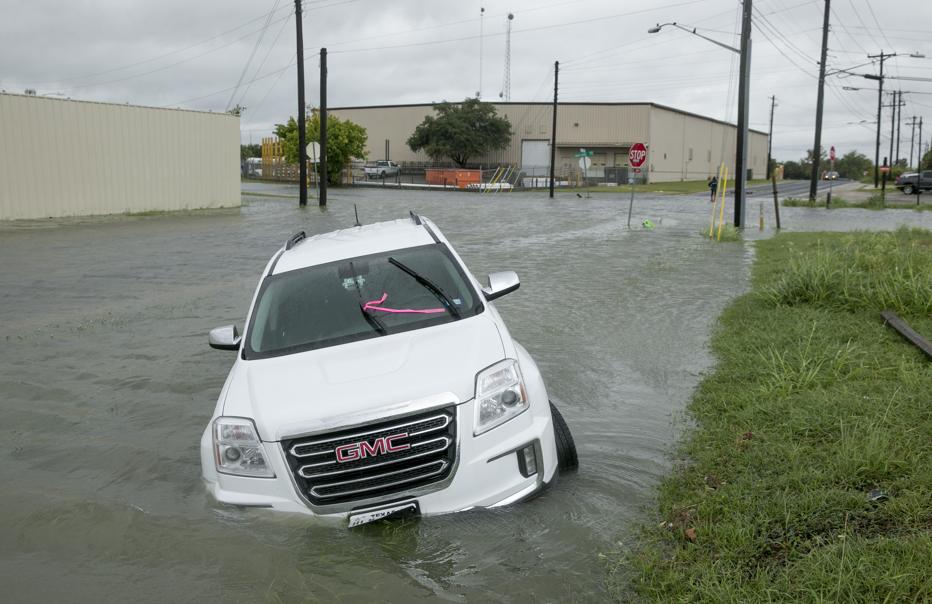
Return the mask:
<svg viewBox="0 0 932 604"><path fill-rule="evenodd" d="M3 600L604 600L600 554L649 517L752 244L703 240L701 195L642 196L631 230L622 191L344 189L326 211L246 199L0 227ZM207 331L242 326L285 238L352 225L353 203L363 222L415 209L476 275L519 273L521 289L496 304L574 433L578 473L510 509L352 531L210 500L198 443L233 359ZM932 227L930 213L782 210L791 230ZM757 212L752 200L754 224Z"/></svg>

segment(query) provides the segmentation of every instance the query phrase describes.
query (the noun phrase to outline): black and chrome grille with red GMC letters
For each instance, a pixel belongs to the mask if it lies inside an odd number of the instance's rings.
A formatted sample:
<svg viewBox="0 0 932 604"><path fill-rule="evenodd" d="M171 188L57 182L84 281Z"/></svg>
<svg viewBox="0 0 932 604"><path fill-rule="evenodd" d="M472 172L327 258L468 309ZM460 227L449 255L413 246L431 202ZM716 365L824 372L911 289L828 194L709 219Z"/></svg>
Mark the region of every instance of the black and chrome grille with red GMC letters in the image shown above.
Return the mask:
<svg viewBox="0 0 932 604"><path fill-rule="evenodd" d="M439 482L456 461L456 408L282 441L295 483L314 505L402 494Z"/></svg>

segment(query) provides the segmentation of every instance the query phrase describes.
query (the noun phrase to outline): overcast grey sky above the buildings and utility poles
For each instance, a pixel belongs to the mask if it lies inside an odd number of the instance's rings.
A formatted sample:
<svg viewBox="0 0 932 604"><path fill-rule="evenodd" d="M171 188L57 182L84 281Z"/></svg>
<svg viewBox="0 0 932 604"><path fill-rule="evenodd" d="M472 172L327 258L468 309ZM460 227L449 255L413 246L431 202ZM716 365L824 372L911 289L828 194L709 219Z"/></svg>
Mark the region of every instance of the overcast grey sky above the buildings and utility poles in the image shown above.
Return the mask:
<svg viewBox="0 0 932 604"><path fill-rule="evenodd" d="M472 96L480 85L480 41L482 97L496 100L510 11L512 101L552 99L559 60L561 100L652 101L736 119L737 55L675 28L647 29L677 21L737 46L738 0L305 0L304 6L307 102L314 105L321 47L329 51L329 105L337 107ZM823 10L821 0L754 1L751 127L767 129L769 97L776 95L773 147L780 160L798 159L812 146ZM213 111L239 103L247 108L243 141L259 142L297 111L293 12L293 0L0 0L0 89ZM932 81L921 81L932 80L932 1L833 0L829 70L877 73L867 55L881 50L899 54L885 63L892 76L885 90L910 91L903 95L905 157L911 116L924 115L924 134L932 135ZM872 157L877 82L842 75L826 82L823 146ZM890 115L885 108L882 149Z"/></svg>

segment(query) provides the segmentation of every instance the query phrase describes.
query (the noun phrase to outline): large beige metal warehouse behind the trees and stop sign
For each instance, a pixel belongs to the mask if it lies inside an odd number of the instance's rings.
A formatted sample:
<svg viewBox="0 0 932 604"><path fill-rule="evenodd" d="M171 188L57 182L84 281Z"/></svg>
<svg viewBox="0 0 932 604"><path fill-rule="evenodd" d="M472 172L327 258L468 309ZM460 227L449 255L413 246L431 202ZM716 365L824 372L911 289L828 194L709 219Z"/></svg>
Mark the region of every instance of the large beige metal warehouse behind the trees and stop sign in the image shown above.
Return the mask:
<svg viewBox="0 0 932 604"><path fill-rule="evenodd" d="M511 164L528 175L545 175L550 166L551 103L493 103L511 122L511 144L501 152L470 160L476 164ZM338 107L330 110L369 133L368 159L428 162L406 141L432 104ZM590 177L627 178L628 149L644 143L648 149L646 179L650 182L699 180L718 172L724 161L734 174L737 128L733 124L656 103L560 103L557 110L558 175L578 172L575 153L593 151ZM766 176L767 134L751 130L748 169L754 178Z"/></svg>

